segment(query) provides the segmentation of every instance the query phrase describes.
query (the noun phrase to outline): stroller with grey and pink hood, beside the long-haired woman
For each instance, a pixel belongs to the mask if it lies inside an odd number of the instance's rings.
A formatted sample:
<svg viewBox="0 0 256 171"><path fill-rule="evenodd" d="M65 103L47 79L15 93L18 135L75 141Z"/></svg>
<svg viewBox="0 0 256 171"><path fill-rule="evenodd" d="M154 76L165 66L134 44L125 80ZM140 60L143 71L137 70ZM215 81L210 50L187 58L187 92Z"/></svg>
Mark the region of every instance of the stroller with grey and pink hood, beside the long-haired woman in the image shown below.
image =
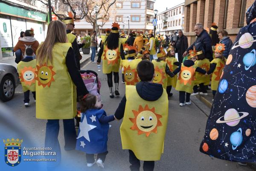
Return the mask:
<svg viewBox="0 0 256 171"><path fill-rule="evenodd" d="M99 90L101 87L101 82L99 81L98 74L92 70L80 70L81 77L84 81L84 85L90 94L95 95L100 100ZM79 103L77 103L77 115L76 119L76 127L79 127L79 122L81 121L81 111L79 107Z"/></svg>

